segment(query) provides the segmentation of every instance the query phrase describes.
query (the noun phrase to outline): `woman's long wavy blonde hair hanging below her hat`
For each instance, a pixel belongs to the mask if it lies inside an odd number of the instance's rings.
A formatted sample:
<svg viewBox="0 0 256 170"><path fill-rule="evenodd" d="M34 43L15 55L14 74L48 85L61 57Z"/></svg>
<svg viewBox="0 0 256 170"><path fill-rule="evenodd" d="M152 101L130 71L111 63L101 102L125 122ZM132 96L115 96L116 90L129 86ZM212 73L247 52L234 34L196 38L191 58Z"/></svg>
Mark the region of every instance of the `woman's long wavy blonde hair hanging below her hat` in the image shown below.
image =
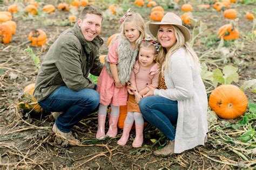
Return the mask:
<svg viewBox="0 0 256 170"><path fill-rule="evenodd" d="M186 53L188 55L190 55L192 57L192 59L194 60L194 65L200 69L200 62L198 59L198 56L196 54L196 52L194 52L193 48L190 46L190 44L188 42L185 42L185 38L183 33L180 31L180 29L175 26L172 25L173 29L174 29L174 34L175 37L177 39L176 43L169 49L169 51L166 51L166 48L161 47L160 48L160 52L157 56L156 62L159 63L159 67L161 68L161 72L164 73L165 69L170 69L170 60L171 60L171 56L174 52L176 52L180 47L183 47L186 51Z"/></svg>

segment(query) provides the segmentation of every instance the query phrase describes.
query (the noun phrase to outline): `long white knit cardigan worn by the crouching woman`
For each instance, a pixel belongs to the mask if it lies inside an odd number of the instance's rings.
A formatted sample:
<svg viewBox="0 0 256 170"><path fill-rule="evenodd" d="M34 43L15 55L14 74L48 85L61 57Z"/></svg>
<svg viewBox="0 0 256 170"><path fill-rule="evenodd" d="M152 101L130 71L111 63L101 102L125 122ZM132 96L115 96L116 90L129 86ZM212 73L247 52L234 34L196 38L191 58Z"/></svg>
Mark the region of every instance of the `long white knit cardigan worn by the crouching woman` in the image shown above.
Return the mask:
<svg viewBox="0 0 256 170"><path fill-rule="evenodd" d="M167 89L156 89L154 95L178 101L174 153L181 153L204 145L208 131L208 102L199 70L184 48L172 54L170 65L171 68L164 72Z"/></svg>

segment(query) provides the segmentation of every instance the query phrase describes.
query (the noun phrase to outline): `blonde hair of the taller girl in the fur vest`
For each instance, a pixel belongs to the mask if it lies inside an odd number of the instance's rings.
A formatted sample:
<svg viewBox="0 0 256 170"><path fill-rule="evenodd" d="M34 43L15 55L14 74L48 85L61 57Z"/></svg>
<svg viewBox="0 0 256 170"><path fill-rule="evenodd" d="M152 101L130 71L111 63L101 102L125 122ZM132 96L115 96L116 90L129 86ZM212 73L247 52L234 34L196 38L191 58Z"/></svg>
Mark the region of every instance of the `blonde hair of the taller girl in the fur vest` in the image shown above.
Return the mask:
<svg viewBox="0 0 256 170"><path fill-rule="evenodd" d="M131 12L131 15L126 16L124 22L120 25L120 34L123 36L125 36L125 24L129 22L132 22L140 32L139 38L135 41L136 46L138 46L139 41L147 36L144 19L137 12Z"/></svg>

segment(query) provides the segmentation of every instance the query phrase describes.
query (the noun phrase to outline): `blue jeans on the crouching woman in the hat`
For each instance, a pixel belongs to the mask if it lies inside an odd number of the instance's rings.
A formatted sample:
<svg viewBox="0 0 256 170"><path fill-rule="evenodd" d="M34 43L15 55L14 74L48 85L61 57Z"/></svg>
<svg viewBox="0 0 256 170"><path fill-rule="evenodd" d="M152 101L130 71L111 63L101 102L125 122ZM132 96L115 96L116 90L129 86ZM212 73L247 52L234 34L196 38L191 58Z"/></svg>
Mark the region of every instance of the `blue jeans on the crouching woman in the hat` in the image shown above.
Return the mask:
<svg viewBox="0 0 256 170"><path fill-rule="evenodd" d="M139 109L147 122L156 126L168 140L174 140L176 130L173 124L178 119L178 102L161 96L144 97Z"/></svg>

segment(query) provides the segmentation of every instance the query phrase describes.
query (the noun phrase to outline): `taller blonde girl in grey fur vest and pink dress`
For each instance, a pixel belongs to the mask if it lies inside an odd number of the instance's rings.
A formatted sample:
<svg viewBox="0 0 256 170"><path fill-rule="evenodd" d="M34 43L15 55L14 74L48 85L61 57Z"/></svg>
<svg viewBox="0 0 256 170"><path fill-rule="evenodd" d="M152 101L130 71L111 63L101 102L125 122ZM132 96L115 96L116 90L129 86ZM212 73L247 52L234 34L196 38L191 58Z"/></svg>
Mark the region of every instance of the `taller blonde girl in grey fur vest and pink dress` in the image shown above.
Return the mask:
<svg viewBox="0 0 256 170"><path fill-rule="evenodd" d="M120 34L112 40L105 66L99 75L97 91L100 95L98 130L96 138L116 137L119 105L127 104L126 83L130 80L132 67L138 55L138 43L145 37L145 23L139 13L130 9L120 19ZM109 131L105 135L107 106L111 104Z"/></svg>

